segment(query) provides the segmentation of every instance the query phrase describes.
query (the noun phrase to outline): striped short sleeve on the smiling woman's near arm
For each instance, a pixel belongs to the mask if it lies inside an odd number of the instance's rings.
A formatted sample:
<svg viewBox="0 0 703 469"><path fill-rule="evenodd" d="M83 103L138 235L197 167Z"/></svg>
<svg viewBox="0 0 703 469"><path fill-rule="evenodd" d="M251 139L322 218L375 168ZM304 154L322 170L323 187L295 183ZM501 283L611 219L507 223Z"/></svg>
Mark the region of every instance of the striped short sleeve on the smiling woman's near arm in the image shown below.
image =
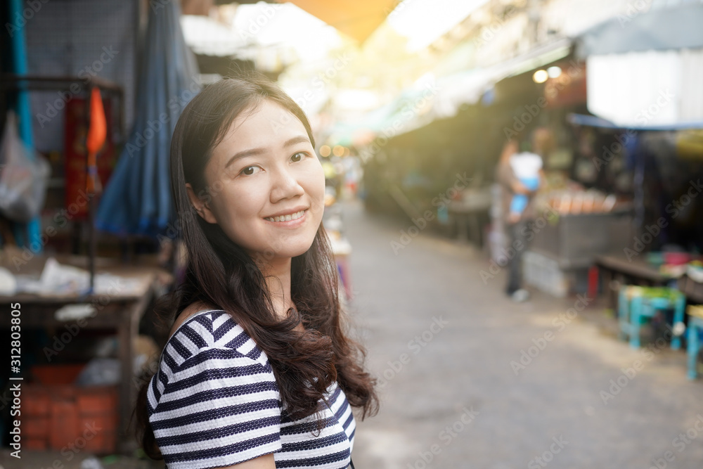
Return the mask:
<svg viewBox="0 0 703 469"><path fill-rule="evenodd" d="M150 417L169 469L219 468L280 451L280 394L268 361L204 348L183 361Z"/></svg>

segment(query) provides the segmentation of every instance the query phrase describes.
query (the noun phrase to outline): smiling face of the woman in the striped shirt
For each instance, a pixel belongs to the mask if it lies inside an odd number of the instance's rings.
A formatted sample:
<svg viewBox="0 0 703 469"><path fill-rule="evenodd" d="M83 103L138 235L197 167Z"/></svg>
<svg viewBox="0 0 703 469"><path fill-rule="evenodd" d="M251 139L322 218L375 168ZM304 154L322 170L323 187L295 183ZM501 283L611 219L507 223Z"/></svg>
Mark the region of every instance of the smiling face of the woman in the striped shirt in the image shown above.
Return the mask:
<svg viewBox="0 0 703 469"><path fill-rule="evenodd" d="M205 181L205 205L188 184L193 205L250 254L295 257L310 248L322 221L325 176L290 111L266 100L241 113L214 148Z"/></svg>

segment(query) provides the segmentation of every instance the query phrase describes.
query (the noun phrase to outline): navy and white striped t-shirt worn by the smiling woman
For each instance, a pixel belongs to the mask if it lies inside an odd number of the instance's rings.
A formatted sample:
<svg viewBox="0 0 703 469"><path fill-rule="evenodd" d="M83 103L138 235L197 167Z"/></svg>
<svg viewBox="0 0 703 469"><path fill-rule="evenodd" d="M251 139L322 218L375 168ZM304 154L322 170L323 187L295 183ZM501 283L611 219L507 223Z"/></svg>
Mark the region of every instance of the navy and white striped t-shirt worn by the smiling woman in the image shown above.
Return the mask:
<svg viewBox="0 0 703 469"><path fill-rule="evenodd" d="M269 359L225 311L200 311L169 338L148 412L169 469L219 468L273 453L276 468L347 468L356 423L333 383L321 418L290 420Z"/></svg>

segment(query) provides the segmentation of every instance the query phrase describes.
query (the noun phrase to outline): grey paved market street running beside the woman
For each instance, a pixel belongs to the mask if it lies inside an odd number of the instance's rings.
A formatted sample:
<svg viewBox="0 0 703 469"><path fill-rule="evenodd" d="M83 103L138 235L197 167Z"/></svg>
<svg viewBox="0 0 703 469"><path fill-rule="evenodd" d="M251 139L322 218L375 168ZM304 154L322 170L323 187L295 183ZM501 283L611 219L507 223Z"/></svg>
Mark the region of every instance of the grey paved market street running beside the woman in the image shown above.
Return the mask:
<svg viewBox="0 0 703 469"><path fill-rule="evenodd" d="M429 230L395 255L411 224L359 201L344 226L351 315L382 386L357 468L701 467L703 380L686 380L684 351L603 333L603 300L510 302L503 272L479 276L484 252Z"/></svg>

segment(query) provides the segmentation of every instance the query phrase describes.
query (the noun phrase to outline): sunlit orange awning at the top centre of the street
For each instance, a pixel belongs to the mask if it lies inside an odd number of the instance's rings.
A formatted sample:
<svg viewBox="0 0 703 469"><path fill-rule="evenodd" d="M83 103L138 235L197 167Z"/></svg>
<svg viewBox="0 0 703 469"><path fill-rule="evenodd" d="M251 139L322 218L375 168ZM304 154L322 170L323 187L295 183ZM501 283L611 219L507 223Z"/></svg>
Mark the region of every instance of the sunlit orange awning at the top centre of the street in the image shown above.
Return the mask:
<svg viewBox="0 0 703 469"><path fill-rule="evenodd" d="M360 43L368 39L396 5L396 0L289 1Z"/></svg>

